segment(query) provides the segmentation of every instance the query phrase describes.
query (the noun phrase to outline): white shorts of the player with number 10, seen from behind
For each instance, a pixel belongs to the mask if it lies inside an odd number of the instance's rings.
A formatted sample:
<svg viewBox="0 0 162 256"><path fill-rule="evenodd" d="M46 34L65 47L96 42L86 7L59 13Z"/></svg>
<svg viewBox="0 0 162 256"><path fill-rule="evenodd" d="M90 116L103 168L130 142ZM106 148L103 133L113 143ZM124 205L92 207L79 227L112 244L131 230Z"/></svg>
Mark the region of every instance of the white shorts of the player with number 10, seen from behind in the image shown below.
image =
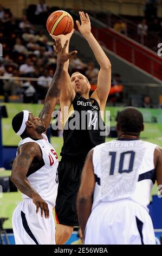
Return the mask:
<svg viewBox="0 0 162 256"><path fill-rule="evenodd" d="M155 245L147 210L131 200L102 203L89 216L85 245Z"/></svg>

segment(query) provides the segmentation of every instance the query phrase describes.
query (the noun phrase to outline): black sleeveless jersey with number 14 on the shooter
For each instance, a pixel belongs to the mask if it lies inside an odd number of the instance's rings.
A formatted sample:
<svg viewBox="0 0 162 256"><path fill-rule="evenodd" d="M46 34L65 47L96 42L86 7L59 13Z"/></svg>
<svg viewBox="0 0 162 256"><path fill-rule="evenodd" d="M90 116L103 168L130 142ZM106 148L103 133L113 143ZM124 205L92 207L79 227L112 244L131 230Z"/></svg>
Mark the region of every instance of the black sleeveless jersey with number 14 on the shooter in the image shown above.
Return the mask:
<svg viewBox="0 0 162 256"><path fill-rule="evenodd" d="M62 159L85 161L87 153L105 142L105 124L95 99L75 95L63 127Z"/></svg>

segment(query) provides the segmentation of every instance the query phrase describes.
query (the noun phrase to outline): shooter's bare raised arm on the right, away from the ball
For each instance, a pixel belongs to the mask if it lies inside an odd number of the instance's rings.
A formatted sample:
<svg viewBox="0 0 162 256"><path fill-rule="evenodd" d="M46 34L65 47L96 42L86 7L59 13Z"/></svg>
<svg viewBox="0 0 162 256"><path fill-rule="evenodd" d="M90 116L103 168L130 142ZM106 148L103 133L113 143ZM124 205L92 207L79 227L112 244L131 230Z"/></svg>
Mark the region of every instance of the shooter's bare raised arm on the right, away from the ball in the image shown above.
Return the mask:
<svg viewBox="0 0 162 256"><path fill-rule="evenodd" d="M96 99L100 104L100 109L104 110L109 90L111 88L111 63L91 32L90 19L88 14L86 13L85 15L83 11L80 11L79 14L81 19L81 25L79 21L76 21L76 25L80 33L85 36L88 44L92 48L96 60L100 65L98 86L95 92L91 95L91 97Z"/></svg>

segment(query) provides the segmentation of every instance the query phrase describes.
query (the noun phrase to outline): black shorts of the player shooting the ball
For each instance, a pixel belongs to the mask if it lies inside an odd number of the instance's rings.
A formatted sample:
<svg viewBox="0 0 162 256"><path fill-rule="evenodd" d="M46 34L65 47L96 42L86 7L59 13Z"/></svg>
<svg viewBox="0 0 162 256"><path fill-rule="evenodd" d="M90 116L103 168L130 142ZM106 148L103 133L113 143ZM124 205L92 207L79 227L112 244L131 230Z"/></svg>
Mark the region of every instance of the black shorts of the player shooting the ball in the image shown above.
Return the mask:
<svg viewBox="0 0 162 256"><path fill-rule="evenodd" d="M63 225L79 226L76 197L80 186L84 162L59 162L59 188L56 199L56 216Z"/></svg>

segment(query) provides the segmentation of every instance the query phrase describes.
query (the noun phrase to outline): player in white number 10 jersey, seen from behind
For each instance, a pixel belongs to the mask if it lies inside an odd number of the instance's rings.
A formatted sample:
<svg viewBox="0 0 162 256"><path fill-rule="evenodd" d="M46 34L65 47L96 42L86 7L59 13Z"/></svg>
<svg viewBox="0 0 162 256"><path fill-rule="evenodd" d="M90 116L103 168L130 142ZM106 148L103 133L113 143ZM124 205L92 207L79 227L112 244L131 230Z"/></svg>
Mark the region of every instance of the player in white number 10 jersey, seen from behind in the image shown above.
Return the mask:
<svg viewBox="0 0 162 256"><path fill-rule="evenodd" d="M77 211L85 244L155 244L150 192L162 184L162 149L140 140L142 114L119 113L118 139L92 149L83 167Z"/></svg>

